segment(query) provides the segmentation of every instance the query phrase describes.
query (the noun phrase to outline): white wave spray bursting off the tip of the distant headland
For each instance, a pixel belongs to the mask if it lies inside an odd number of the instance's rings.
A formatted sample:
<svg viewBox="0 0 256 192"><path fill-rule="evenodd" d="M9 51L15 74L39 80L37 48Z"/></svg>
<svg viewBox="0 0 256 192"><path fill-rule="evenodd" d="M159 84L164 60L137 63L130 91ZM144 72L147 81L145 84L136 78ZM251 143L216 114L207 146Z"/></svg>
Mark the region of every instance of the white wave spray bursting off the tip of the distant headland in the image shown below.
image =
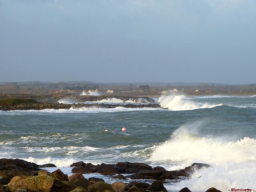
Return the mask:
<svg viewBox="0 0 256 192"><path fill-rule="evenodd" d="M173 111L194 110L222 106L222 104L208 104L195 102L189 98L186 98L184 95L161 96L158 99L158 102L160 102L161 107L168 108Z"/></svg>

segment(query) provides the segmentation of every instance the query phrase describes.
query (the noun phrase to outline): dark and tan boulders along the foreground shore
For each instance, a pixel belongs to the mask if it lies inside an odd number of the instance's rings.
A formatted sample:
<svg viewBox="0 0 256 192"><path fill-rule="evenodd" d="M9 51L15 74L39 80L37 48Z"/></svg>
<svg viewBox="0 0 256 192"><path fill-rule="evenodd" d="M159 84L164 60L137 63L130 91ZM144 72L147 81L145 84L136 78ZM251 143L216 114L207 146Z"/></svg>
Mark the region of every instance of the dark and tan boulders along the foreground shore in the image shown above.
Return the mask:
<svg viewBox="0 0 256 192"><path fill-rule="evenodd" d="M189 167L176 171L167 171L163 167L154 167L144 163L119 162L117 164L93 165L76 162L71 165L73 174L67 176L60 169L51 173L41 169L56 167L53 164L37 165L20 159L0 159L0 192L167 192L163 183L168 180L179 182L189 179L195 170L208 168L210 165L194 163ZM85 178L85 173L100 173L115 178L117 181L110 184L102 178ZM124 177L121 174L130 174ZM127 182L126 179L133 179ZM150 179L153 182L138 182L137 179ZM187 187L179 192L190 192ZM207 192L220 192L210 188Z"/></svg>

